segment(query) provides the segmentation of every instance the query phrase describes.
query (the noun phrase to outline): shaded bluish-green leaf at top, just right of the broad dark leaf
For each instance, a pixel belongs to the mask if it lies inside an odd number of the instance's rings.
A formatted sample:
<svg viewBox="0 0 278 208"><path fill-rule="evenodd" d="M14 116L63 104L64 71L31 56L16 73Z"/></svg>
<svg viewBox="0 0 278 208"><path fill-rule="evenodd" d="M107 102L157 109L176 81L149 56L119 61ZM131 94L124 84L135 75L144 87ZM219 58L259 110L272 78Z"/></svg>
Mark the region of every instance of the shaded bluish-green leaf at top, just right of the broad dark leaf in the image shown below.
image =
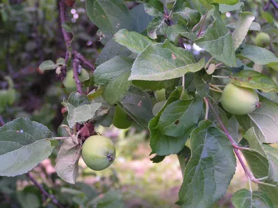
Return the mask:
<svg viewBox="0 0 278 208"><path fill-rule="evenodd" d="M151 15L148 15L145 12L143 4L135 6L132 10L129 11L133 22L133 31L137 33L142 33L145 31L149 23L154 19Z"/></svg>

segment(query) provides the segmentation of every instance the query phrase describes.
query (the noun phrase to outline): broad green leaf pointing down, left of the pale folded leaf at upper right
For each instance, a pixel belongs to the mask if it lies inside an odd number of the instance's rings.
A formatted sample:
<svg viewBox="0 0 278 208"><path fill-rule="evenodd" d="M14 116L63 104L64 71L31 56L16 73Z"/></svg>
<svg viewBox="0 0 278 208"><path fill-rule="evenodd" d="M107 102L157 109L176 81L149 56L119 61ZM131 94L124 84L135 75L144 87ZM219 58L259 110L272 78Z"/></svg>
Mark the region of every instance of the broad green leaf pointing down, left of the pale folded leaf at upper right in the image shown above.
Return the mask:
<svg viewBox="0 0 278 208"><path fill-rule="evenodd" d="M234 42L227 27L219 18L215 19L213 26L208 28L204 37L196 40L195 44L211 53L220 62L234 67L236 66Z"/></svg>

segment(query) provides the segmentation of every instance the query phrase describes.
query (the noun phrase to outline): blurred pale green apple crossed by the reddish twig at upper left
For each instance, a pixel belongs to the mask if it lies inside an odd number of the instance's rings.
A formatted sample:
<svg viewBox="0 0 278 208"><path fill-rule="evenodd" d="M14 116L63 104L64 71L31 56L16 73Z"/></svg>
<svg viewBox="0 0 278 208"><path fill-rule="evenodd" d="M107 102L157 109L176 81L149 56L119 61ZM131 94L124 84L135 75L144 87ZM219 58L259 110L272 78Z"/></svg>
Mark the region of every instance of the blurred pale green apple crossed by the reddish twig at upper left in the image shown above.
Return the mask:
<svg viewBox="0 0 278 208"><path fill-rule="evenodd" d="M82 83L84 80L88 80L88 78L88 72L85 69L81 69L81 74L79 75L80 82ZM67 76L65 77L65 80L63 80L63 84L69 92L76 90L73 70L67 71Z"/></svg>

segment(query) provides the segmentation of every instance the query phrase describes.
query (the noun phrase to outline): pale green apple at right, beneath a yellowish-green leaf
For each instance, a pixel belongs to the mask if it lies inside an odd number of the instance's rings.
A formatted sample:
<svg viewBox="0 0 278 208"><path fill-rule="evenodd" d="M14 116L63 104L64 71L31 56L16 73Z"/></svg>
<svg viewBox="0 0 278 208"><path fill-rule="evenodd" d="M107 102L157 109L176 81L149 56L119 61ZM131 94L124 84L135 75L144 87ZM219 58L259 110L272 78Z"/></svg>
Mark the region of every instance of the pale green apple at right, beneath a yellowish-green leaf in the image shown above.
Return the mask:
<svg viewBox="0 0 278 208"><path fill-rule="evenodd" d="M259 96L254 89L229 83L224 87L220 101L227 112L245 115L256 110L259 105Z"/></svg>

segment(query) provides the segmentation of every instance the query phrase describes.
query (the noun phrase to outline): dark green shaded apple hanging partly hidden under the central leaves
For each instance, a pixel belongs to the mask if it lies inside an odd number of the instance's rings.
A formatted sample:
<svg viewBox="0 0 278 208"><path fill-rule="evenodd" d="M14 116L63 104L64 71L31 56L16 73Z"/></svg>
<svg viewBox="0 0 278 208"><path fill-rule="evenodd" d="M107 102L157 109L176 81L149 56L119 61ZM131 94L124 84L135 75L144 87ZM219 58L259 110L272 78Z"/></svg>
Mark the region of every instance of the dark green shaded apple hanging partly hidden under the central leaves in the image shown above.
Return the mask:
<svg viewBox="0 0 278 208"><path fill-rule="evenodd" d="M119 105L115 106L113 125L117 128L126 129L131 126L133 120Z"/></svg>

